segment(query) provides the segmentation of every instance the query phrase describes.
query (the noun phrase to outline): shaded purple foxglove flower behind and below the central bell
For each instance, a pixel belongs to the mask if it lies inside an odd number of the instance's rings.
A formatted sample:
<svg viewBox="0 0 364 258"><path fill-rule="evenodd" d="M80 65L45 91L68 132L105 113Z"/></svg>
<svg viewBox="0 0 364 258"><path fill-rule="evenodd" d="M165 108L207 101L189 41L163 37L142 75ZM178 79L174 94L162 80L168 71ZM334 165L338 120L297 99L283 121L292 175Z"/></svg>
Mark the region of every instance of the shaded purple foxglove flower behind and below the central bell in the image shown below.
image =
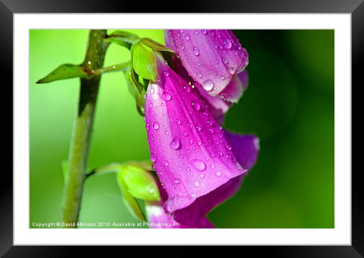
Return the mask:
<svg viewBox="0 0 364 258"><path fill-rule="evenodd" d="M231 150L238 163L250 170L257 160L259 139L254 135L238 135L228 131L225 131L225 137L232 143ZM145 206L148 222L153 223L151 228L215 228L206 214L233 196L244 177L245 174L229 180L207 195L197 198L190 206L173 212L173 215L164 212L163 205L168 196L159 184L161 201L146 202Z"/></svg>

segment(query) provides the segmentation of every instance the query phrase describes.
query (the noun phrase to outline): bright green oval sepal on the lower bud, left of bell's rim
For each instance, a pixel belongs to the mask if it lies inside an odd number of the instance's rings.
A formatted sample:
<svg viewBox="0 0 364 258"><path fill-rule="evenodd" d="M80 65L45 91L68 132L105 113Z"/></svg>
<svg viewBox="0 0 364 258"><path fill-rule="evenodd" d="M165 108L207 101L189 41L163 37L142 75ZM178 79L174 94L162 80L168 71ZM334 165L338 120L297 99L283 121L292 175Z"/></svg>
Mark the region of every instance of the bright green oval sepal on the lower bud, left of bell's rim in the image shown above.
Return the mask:
<svg viewBox="0 0 364 258"><path fill-rule="evenodd" d="M137 164L126 164L119 174L134 198L144 201L161 200L154 176L145 171L144 168L137 166Z"/></svg>

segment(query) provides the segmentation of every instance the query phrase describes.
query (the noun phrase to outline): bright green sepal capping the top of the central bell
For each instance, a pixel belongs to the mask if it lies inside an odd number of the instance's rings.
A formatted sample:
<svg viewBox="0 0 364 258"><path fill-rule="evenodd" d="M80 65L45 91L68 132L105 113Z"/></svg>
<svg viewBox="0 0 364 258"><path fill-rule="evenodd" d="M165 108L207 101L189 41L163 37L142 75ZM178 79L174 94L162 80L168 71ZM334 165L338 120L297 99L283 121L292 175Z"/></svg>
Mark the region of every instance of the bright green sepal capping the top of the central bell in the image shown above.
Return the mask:
<svg viewBox="0 0 364 258"><path fill-rule="evenodd" d="M142 78L155 81L157 64L153 50L139 41L132 46L131 55L134 71Z"/></svg>

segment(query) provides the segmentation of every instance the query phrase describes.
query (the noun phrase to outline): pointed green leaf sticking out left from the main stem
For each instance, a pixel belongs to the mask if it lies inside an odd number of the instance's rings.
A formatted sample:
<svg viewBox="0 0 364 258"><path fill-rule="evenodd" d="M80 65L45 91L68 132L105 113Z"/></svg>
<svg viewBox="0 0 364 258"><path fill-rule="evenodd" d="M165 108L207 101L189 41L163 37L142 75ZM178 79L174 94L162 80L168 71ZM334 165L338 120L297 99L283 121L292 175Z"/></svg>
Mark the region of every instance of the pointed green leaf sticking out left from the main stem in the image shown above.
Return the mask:
<svg viewBox="0 0 364 258"><path fill-rule="evenodd" d="M43 79L37 81L37 83L47 83L74 77L86 78L87 76L88 74L83 70L81 66L65 63L54 69L50 74L48 74Z"/></svg>

